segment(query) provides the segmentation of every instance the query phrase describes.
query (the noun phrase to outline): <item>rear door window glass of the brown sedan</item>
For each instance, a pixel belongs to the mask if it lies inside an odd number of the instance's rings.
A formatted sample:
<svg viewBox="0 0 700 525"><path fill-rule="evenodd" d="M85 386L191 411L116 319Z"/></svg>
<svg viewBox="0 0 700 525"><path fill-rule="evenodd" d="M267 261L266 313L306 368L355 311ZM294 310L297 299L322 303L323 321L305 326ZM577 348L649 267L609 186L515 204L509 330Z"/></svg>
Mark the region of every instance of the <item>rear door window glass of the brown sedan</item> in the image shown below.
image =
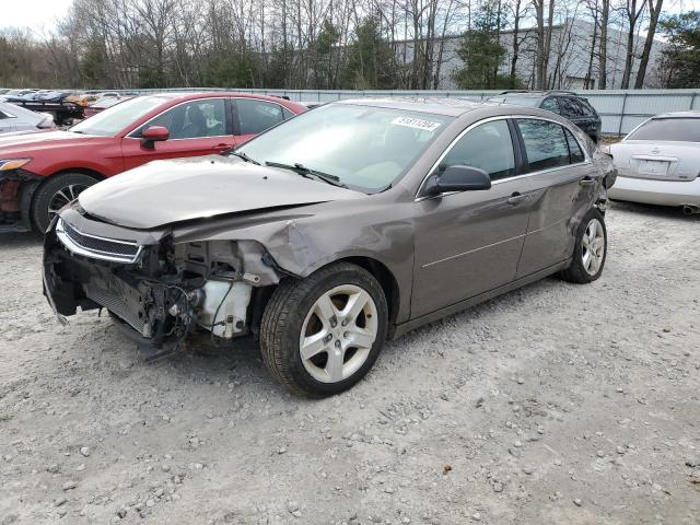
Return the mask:
<svg viewBox="0 0 700 525"><path fill-rule="evenodd" d="M570 164L564 128L549 120L518 118L529 172Z"/></svg>

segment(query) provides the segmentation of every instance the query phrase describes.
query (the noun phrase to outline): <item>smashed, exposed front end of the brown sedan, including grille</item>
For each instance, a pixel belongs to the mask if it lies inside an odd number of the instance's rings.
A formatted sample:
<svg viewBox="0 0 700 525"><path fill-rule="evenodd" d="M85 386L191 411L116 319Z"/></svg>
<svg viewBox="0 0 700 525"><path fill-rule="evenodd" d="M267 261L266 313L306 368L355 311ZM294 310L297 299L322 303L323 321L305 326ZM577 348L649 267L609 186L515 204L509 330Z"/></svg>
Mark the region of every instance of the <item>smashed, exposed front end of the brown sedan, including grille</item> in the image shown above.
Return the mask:
<svg viewBox="0 0 700 525"><path fill-rule="evenodd" d="M252 331L254 296L279 282L255 241L153 244L106 238L58 219L45 240L44 288L60 316L106 308L147 359L172 353L192 334L213 340Z"/></svg>

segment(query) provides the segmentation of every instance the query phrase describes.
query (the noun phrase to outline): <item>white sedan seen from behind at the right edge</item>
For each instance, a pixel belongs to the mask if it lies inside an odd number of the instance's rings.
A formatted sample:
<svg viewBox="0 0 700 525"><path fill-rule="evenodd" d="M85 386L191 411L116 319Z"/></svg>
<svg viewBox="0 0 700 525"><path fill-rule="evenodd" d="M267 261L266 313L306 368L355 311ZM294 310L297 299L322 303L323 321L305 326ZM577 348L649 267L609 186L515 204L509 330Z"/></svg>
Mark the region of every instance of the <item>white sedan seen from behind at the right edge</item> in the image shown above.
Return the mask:
<svg viewBox="0 0 700 525"><path fill-rule="evenodd" d="M700 112L656 115L602 149L618 171L611 199L700 213Z"/></svg>

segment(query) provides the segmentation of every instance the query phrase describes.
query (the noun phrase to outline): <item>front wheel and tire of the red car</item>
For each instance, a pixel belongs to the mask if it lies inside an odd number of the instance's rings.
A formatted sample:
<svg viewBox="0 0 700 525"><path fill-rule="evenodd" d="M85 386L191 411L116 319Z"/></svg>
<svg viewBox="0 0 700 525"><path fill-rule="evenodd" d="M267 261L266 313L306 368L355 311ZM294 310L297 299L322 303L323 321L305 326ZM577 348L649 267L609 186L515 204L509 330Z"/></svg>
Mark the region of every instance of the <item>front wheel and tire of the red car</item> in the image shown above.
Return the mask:
<svg viewBox="0 0 700 525"><path fill-rule="evenodd" d="M58 207L62 208L80 192L98 180L82 173L62 173L44 182L32 200L32 222L37 231L45 233ZM54 208L49 211L49 207Z"/></svg>

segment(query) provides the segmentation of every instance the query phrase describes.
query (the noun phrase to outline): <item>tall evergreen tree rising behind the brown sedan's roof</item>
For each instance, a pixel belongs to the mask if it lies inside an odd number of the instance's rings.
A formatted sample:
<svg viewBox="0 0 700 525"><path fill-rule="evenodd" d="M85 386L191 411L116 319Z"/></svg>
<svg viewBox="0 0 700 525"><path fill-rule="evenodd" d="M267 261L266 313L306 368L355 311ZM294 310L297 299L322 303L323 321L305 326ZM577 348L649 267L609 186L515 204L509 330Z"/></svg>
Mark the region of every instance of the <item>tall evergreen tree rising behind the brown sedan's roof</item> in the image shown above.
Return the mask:
<svg viewBox="0 0 700 525"><path fill-rule="evenodd" d="M453 77L460 89L497 90L515 88L509 75L500 74L499 68L505 59L505 48L499 42L499 33L505 20L499 15L493 2L485 3L477 12L474 28L464 34L457 55L464 68L454 71Z"/></svg>

